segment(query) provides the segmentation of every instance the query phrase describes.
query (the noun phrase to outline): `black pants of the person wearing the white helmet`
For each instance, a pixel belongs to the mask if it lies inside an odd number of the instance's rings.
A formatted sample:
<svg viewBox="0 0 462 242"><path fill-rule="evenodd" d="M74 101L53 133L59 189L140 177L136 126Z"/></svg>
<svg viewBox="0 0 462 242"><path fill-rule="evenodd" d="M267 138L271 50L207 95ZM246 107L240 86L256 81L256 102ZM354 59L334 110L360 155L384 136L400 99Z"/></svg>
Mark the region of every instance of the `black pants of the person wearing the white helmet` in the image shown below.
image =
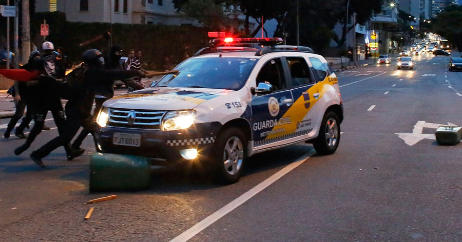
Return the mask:
<svg viewBox="0 0 462 242"><path fill-rule="evenodd" d="M35 137L42 132L43 125L45 124L45 119L47 118L48 111L51 111L53 115L54 123L58 129L60 135L64 133L64 125L66 123L66 118L64 115L63 105L61 104L61 99L59 97L46 100L46 102L35 102L31 103L28 108L31 108L33 112L34 126L32 127L29 136L26 139L24 146L29 148L29 146L34 141ZM28 110L29 112L29 110ZM68 151L68 146L65 147L66 152Z"/></svg>

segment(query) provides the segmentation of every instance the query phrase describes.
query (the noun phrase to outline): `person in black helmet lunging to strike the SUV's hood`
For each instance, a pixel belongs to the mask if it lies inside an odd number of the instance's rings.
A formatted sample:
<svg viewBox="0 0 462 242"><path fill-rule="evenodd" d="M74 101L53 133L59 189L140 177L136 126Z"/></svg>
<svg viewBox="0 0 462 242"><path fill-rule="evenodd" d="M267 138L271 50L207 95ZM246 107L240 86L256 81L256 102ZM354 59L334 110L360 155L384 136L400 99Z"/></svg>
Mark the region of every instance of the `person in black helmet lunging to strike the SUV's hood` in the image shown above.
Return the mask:
<svg viewBox="0 0 462 242"><path fill-rule="evenodd" d="M81 126L89 130L93 129L95 123L92 121L90 112L94 96L100 86L113 84L115 79L145 77L144 73L136 70L105 70L103 68L104 58L99 50L87 50L83 53L83 58L88 65L88 70L85 72L82 83L72 88L74 93L70 96L65 109L67 120L64 132L30 154L31 159L43 168L45 165L42 158L54 149L68 144Z"/></svg>

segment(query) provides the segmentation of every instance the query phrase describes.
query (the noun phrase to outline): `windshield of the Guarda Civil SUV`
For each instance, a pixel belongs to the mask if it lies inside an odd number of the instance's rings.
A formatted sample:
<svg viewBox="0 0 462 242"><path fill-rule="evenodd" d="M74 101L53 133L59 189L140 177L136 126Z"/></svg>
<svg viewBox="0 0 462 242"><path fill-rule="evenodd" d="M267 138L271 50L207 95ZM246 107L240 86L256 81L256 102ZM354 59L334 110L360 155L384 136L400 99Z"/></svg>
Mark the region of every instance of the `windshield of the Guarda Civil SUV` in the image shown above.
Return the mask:
<svg viewBox="0 0 462 242"><path fill-rule="evenodd" d="M151 87L201 87L239 90L257 63L255 58L190 58Z"/></svg>

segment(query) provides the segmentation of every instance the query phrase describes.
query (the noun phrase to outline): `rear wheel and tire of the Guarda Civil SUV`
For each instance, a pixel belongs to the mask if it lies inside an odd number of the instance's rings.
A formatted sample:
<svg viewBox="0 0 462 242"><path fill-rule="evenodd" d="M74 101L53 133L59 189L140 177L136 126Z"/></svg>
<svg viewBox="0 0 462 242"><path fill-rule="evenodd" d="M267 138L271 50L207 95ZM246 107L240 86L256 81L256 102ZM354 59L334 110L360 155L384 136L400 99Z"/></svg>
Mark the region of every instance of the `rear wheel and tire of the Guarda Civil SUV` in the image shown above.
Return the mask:
<svg viewBox="0 0 462 242"><path fill-rule="evenodd" d="M328 138L327 135L330 137ZM313 142L313 147L320 155L330 155L337 150L339 142L340 123L338 122L338 115L332 111L326 112L322 118L318 137Z"/></svg>

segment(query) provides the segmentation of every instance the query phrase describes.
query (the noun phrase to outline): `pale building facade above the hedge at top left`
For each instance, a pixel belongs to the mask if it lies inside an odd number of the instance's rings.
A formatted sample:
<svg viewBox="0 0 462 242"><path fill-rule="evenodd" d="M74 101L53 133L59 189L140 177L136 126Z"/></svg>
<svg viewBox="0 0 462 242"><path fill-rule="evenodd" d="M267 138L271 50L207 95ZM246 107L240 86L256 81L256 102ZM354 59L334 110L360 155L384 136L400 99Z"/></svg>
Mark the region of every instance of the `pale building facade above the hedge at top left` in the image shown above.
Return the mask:
<svg viewBox="0 0 462 242"><path fill-rule="evenodd" d="M223 6L239 30L244 28L245 15L237 6ZM195 19L177 12L171 0L42 0L35 3L36 12L61 11L69 22L121 24L199 25ZM249 19L252 32L256 26Z"/></svg>

